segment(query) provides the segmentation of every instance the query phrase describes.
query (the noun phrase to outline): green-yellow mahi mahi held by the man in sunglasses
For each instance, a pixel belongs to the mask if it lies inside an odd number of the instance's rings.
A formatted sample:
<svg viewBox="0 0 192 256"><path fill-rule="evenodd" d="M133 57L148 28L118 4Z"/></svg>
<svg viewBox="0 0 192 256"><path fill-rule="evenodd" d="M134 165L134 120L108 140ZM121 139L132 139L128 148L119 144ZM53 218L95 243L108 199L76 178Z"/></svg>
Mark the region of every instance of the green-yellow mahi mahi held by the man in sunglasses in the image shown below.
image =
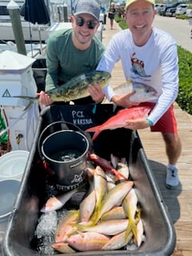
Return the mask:
<svg viewBox="0 0 192 256"><path fill-rule="evenodd" d="M106 83L110 80L110 77L110 73L106 71L90 71L86 74L80 74L70 79L70 81L62 84L62 86L58 86L52 90L47 91L46 94L50 96L50 99L53 102L70 102L79 98L86 98L90 95L87 90L90 84L94 86L94 83L98 82L102 87L104 87L106 86ZM26 106L26 109L28 109L33 102L38 101L38 97L13 97L29 100L30 103Z"/></svg>

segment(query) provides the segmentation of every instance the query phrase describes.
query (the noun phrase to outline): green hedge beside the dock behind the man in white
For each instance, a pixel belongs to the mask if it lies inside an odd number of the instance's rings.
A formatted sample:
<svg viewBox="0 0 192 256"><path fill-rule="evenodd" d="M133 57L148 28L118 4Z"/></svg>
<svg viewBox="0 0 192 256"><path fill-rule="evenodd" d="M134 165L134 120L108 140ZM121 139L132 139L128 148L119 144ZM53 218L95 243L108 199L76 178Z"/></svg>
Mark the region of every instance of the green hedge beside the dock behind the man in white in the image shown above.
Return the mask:
<svg viewBox="0 0 192 256"><path fill-rule="evenodd" d="M116 20L116 17L115 17ZM125 30L128 28L124 18L118 17L118 25ZM179 66L179 89L178 89L178 106L187 113L192 114L192 53L178 46L178 66Z"/></svg>

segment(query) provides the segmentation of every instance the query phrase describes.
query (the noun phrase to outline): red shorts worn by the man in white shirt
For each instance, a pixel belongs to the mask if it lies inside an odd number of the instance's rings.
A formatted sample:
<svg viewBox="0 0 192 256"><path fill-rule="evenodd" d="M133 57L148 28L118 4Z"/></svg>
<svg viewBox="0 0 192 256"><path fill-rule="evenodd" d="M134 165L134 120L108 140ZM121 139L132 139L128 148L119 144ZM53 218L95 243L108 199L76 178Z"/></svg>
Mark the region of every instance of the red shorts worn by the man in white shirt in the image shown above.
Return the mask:
<svg viewBox="0 0 192 256"><path fill-rule="evenodd" d="M155 104L156 103L154 102L143 102L140 105L152 106L154 108ZM150 127L150 130L159 131L164 134L178 133L178 125L174 115L174 105L170 106L170 108L166 111L166 113L162 115L162 118L160 118L154 126Z"/></svg>

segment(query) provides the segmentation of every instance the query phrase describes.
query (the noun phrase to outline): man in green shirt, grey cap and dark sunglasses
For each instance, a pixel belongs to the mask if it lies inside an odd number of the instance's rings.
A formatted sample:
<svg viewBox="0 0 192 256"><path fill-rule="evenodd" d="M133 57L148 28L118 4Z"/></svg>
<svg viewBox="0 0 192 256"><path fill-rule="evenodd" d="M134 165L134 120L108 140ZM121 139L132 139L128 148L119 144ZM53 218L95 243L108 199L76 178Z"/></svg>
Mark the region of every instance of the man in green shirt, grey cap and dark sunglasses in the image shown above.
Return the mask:
<svg viewBox="0 0 192 256"><path fill-rule="evenodd" d="M78 0L71 16L72 29L58 30L50 35L46 47L46 91L69 81L71 78L96 70L105 50L95 37L99 26L100 6L97 0ZM102 90L98 86L98 90ZM75 101L76 104L102 102L101 94ZM52 103L46 92L39 94L39 101L47 106Z"/></svg>

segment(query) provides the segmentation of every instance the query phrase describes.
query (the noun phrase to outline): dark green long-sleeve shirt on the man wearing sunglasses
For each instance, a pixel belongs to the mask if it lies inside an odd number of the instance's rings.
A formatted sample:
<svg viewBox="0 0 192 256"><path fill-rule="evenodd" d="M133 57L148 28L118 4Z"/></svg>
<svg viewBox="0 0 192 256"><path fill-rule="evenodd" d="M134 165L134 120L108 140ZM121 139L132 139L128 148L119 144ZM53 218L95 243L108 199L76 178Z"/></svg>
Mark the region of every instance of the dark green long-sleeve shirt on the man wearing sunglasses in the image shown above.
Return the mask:
<svg viewBox="0 0 192 256"><path fill-rule="evenodd" d="M105 50L94 36L87 50L78 50L72 42L73 30L58 30L50 35L46 46L46 91L78 74L96 70Z"/></svg>

